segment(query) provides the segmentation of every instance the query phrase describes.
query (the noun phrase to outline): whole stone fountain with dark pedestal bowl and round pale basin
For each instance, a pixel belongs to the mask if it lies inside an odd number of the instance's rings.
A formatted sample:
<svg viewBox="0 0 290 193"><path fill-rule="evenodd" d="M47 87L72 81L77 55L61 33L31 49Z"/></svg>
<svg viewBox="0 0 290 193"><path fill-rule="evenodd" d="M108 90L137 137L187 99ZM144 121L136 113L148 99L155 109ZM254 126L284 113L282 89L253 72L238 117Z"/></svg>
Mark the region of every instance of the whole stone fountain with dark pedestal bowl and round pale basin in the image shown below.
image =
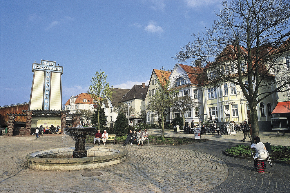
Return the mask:
<svg viewBox="0 0 290 193"><path fill-rule="evenodd" d="M57 148L30 153L27 165L35 170L84 170L105 167L126 160L125 148L86 147L86 135L96 128L65 128L65 134L75 140L75 148Z"/></svg>

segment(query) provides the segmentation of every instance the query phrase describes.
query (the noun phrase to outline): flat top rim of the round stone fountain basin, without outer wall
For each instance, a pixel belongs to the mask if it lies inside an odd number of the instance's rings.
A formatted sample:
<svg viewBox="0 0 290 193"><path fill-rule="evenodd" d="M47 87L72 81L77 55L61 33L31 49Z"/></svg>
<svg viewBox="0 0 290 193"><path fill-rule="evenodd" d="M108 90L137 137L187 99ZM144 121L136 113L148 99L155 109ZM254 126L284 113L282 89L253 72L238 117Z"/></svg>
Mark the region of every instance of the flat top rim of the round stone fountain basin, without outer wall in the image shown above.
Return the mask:
<svg viewBox="0 0 290 193"><path fill-rule="evenodd" d="M117 160L125 157L128 154L128 150L121 147L114 147L114 148L106 148L106 147L100 147L100 148L94 148L98 151L110 151L110 152L116 152L114 150L117 150L119 152L111 155L104 155L104 156L92 156L92 157L82 157L82 158L42 158L42 157L36 157L39 154L48 155L48 154L56 154L61 152L72 152L74 150L73 147L69 148L56 148L56 149L50 149L50 150L41 150L37 152L32 152L26 155L26 160L28 162L32 163L43 163L43 164L77 164L77 163L97 163L97 162L104 162L104 161L112 161Z"/></svg>

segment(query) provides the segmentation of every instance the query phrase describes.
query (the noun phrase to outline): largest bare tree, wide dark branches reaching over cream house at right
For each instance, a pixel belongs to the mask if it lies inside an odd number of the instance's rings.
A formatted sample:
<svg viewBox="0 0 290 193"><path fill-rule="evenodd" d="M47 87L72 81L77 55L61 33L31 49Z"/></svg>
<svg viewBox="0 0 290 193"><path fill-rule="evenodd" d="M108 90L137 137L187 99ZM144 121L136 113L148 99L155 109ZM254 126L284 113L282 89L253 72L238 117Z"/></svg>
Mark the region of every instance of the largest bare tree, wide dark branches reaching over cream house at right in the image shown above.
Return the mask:
<svg viewBox="0 0 290 193"><path fill-rule="evenodd" d="M289 7L285 0L223 1L212 28L193 34L193 43L173 57L206 63L205 84L239 85L250 106L253 136L259 136L257 104L274 92L285 91L290 81L289 70L283 77L274 76L285 65L279 58L289 50L289 44L281 47L290 35ZM215 61L210 63L210 59Z"/></svg>

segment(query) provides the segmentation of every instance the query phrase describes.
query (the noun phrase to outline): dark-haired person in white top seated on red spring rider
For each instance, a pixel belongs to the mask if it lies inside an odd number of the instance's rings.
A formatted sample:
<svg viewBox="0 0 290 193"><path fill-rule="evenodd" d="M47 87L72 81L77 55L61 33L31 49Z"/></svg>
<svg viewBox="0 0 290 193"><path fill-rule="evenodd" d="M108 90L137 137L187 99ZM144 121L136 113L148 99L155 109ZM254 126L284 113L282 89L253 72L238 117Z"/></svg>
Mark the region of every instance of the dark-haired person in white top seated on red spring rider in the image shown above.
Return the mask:
<svg viewBox="0 0 290 193"><path fill-rule="evenodd" d="M255 136L254 143L252 143L250 149L256 151L254 158L256 159L267 159L268 154L266 152L266 147L264 143L260 142L260 137ZM254 168L258 168L258 161L254 160ZM266 169L266 164L264 162L264 168Z"/></svg>

